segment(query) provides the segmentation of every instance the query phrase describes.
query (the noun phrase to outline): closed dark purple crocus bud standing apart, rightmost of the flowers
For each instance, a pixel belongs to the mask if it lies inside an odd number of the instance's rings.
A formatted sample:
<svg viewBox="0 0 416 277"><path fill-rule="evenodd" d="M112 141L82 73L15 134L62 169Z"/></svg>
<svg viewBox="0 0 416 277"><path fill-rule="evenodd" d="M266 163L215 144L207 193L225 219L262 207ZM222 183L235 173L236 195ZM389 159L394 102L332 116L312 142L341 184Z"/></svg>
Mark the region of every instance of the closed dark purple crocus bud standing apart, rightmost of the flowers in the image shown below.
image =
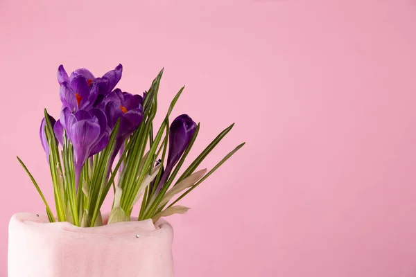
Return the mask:
<svg viewBox="0 0 416 277"><path fill-rule="evenodd" d="M171 174L173 167L179 161L180 157L182 157L185 150L187 150L195 129L196 123L187 114L177 116L177 118L173 120L171 128L169 129L169 152L166 170L157 185L156 194L162 189L162 186Z"/></svg>

